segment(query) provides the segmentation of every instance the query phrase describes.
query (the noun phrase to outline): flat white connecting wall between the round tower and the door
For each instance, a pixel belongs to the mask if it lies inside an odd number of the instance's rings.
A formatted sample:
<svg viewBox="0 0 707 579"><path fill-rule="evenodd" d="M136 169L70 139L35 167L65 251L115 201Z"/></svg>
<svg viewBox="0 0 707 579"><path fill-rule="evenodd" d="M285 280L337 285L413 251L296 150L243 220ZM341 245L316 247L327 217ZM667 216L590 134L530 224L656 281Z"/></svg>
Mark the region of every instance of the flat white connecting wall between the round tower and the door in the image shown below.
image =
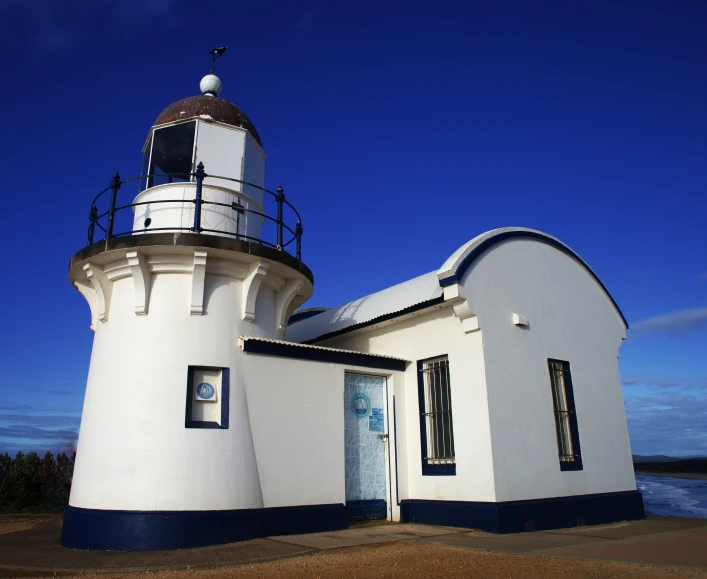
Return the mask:
<svg viewBox="0 0 707 579"><path fill-rule="evenodd" d="M344 503L344 372L390 376L391 400L402 373L257 354L242 368L264 505Z"/></svg>

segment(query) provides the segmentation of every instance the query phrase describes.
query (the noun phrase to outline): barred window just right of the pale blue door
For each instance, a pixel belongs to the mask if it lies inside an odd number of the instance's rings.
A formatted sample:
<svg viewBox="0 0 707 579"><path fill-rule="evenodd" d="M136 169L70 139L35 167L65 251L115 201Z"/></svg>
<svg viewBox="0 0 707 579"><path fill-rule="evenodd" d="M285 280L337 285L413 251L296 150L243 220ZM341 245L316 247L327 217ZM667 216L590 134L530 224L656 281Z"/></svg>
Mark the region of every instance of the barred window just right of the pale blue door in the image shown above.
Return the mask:
<svg viewBox="0 0 707 579"><path fill-rule="evenodd" d="M423 475L456 474L449 360L439 356L417 363Z"/></svg>

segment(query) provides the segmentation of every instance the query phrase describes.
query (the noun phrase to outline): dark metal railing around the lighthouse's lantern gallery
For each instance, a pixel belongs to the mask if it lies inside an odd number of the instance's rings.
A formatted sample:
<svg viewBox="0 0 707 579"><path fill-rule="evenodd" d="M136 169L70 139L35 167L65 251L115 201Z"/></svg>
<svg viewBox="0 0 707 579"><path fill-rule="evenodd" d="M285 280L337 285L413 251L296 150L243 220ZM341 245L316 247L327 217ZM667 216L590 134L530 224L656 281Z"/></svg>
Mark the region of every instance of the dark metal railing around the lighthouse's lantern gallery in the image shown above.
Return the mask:
<svg viewBox="0 0 707 579"><path fill-rule="evenodd" d="M193 183L195 192L194 199L153 199L149 201L131 202L130 204L125 205L118 204L118 192L121 191L121 188L123 188L124 185L131 183L144 183L145 179L149 179L150 182L153 182L156 177L166 178L170 183L174 183L175 179L184 181L185 184ZM208 199L204 199L203 185L204 179L206 178L220 179L226 182L230 181L233 183L239 183L241 185L241 191L234 192L235 195L239 198L239 201L233 203L221 203L218 201L210 201ZM250 207L250 204L246 207L245 205L240 203L241 196L249 198L248 194L243 191L245 187L252 187L267 194L264 195L263 199L263 211L252 209ZM144 189L140 188L140 190ZM277 217L272 217L272 215L269 215L268 209L266 207L266 205L272 204L273 202L275 204L275 213ZM131 218L129 221L129 228L125 227L127 225L127 220L124 217L127 213L132 216L133 211L136 207L139 207L141 205L157 205L161 203L193 203L193 225L191 227L179 227L175 225L170 225L168 227L149 227L146 224L144 228L136 229L134 228L134 220ZM252 214L257 217L260 217L263 219L264 222L263 231L259 236L255 237L248 235L247 230L239 231L239 226L236 227L236 232L223 229L205 228L201 224L201 215L204 206L209 205L233 209L240 215ZM101 210L99 209L99 207L101 206L107 207L107 209L101 212ZM130 209L131 211L125 212L124 210L126 209ZM292 217L296 219L294 229L286 223L286 210L291 212L293 214ZM120 230L120 227L117 225L117 223L121 220L121 217L123 218L122 223L124 224L124 230ZM274 227L275 231L273 232L271 228L268 228L268 225ZM119 229L118 233L116 233L115 231L116 227L118 227ZM97 228L103 231L103 233L105 234L99 239L95 238ZM95 243L96 241L101 241L104 239L111 239L114 237L125 237L128 235L133 235L134 233L147 233L152 231L189 231L192 233L218 233L221 235L229 235L237 239L243 239L245 241L252 241L255 243L259 243L260 245L266 245L268 247L272 247L280 251L286 251L285 248L291 246L291 244L294 243L294 255L298 261L301 261L302 259L302 218L300 217L300 214L297 209L295 209L294 206L285 198L285 191L282 187L278 187L276 192L272 192L265 189L264 187L260 187L259 185L255 185L247 181L241 181L240 179L234 179L231 177L221 177L218 175L209 175L206 173L203 163L199 163L196 168L196 171L193 173L164 173L155 175L140 175L139 177L133 177L131 179L124 180L121 180L120 175L116 173L115 175L113 175L113 179L111 179L110 185L106 187L103 191L101 191L98 195L96 195L96 197L93 199L93 202L91 203L91 211L89 214L89 245ZM275 240L270 241L268 237L274 237ZM291 253L291 251L288 253Z"/></svg>

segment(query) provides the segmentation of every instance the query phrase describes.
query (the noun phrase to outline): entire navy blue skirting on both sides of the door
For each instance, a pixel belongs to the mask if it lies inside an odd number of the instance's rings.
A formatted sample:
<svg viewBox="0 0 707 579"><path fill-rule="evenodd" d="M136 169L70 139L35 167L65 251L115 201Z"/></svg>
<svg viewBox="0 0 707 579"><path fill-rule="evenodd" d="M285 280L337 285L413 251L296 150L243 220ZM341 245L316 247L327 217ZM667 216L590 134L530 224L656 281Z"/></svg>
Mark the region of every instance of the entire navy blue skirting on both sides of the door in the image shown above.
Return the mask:
<svg viewBox="0 0 707 579"><path fill-rule="evenodd" d="M400 504L401 522L482 529L542 531L645 517L638 491L502 503L427 501ZM343 504L233 511L106 511L66 507L61 545L100 551L189 549L268 537L346 529Z"/></svg>

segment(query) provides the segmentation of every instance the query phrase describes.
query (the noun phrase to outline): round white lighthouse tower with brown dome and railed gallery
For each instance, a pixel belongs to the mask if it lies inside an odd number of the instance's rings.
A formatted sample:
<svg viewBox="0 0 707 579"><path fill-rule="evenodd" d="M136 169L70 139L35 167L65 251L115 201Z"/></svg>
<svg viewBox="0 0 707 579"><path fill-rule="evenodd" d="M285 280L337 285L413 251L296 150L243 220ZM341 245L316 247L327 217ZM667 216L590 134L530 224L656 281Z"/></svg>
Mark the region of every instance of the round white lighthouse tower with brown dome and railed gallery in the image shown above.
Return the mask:
<svg viewBox="0 0 707 579"><path fill-rule="evenodd" d="M94 200L71 259L95 337L66 547L182 548L270 529L237 340L282 338L313 276L299 215L264 189L253 123L218 97L215 75L201 90L157 117L142 177L116 175Z"/></svg>

